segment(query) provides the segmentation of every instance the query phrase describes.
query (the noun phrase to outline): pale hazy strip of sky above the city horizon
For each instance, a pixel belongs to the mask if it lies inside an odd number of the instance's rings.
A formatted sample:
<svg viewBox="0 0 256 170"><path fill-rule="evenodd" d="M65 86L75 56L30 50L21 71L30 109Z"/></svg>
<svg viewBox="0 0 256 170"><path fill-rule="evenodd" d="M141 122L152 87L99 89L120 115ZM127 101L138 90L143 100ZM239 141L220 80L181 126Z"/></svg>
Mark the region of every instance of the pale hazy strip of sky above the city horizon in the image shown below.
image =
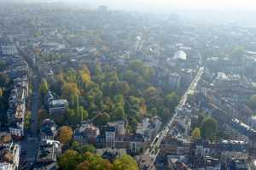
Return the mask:
<svg viewBox="0 0 256 170"><path fill-rule="evenodd" d="M110 8L228 8L256 9L256 0L62 0L66 2L107 4Z"/></svg>

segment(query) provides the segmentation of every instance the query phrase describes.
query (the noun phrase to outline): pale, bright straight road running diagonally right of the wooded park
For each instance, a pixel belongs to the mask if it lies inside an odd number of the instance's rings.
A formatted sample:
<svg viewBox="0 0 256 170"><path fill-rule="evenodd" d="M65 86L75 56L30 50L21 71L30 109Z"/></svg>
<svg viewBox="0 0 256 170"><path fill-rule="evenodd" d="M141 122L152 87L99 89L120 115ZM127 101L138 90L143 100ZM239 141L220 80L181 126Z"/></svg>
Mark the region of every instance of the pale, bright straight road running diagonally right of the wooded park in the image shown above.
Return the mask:
<svg viewBox="0 0 256 170"><path fill-rule="evenodd" d="M177 109L182 109L187 103L189 94L194 94L197 83L200 81L203 71L204 71L204 67L201 67L197 71L197 73L194 77L194 80L190 83L189 88L186 90L186 92L183 94L181 100L179 101L179 103L177 105ZM172 116L172 119L170 120L170 122L168 122L166 127L164 127L163 130L161 130L160 133L158 133L156 135L153 142L150 144L150 147L144 152L144 155L148 155L148 154L150 155L151 160L153 162L155 161L156 157L159 154L159 148L160 148L160 144L161 144L162 140L166 137L168 132L172 129L173 122L178 114L177 109L175 111L175 114Z"/></svg>

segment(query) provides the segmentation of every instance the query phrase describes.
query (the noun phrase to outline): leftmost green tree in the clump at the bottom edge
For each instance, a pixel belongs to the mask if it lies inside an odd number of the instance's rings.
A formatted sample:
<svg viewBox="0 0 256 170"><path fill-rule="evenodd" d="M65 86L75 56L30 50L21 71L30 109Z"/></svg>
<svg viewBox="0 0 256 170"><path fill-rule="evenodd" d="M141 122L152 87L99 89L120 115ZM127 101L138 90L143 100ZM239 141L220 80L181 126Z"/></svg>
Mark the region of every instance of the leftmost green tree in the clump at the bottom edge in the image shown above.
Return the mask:
<svg viewBox="0 0 256 170"><path fill-rule="evenodd" d="M67 150L58 159L58 165L63 170L71 170L77 167L77 165L79 164L79 161L80 161L79 152L75 150Z"/></svg>

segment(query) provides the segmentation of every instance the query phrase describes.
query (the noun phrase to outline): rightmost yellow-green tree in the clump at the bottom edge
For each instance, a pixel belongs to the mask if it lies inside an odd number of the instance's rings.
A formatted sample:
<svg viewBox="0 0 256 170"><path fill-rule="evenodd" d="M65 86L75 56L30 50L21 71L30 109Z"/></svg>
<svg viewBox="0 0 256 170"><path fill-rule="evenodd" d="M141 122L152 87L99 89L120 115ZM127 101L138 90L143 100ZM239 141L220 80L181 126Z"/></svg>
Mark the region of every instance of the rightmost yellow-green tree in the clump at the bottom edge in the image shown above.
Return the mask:
<svg viewBox="0 0 256 170"><path fill-rule="evenodd" d="M113 161L113 170L138 170L137 161L131 156L124 155Z"/></svg>

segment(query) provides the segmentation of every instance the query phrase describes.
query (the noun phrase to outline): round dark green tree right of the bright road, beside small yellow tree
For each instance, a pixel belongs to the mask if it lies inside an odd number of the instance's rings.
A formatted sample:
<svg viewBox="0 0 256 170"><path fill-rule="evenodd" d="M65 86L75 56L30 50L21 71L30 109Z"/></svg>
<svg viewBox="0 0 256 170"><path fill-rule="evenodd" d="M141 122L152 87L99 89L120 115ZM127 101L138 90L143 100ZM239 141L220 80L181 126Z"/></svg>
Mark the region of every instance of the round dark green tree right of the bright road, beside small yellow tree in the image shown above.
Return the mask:
<svg viewBox="0 0 256 170"><path fill-rule="evenodd" d="M201 123L201 137L203 139L214 139L218 130L218 123L212 117L206 117Z"/></svg>

